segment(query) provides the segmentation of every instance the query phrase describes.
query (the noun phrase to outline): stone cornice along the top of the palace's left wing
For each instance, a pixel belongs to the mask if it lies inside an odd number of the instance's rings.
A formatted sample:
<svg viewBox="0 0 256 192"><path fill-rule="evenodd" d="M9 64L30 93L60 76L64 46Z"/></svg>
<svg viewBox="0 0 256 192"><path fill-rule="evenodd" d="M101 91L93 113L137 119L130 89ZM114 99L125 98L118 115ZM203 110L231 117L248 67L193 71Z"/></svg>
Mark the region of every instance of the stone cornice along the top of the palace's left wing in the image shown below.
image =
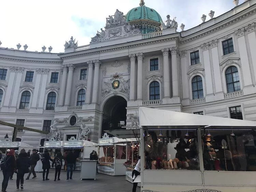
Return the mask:
<svg viewBox="0 0 256 192"><path fill-rule="evenodd" d="M48 63L48 64L60 64L62 63L61 59L58 59L59 61L53 61L51 59L49 60L39 60L38 58L17 58L17 57L10 57L10 56L4 56L0 55L0 60L5 61L14 61L14 62L23 62L23 63Z"/></svg>

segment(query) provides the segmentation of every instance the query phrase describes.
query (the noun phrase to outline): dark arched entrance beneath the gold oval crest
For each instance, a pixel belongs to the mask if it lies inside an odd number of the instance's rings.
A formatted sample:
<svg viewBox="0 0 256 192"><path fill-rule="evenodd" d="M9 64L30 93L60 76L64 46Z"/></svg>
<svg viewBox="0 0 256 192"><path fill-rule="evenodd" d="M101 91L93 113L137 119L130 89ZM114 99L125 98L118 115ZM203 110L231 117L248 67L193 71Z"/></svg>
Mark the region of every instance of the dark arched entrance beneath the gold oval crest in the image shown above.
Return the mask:
<svg viewBox="0 0 256 192"><path fill-rule="evenodd" d="M127 101L121 96L111 97L103 107L103 117L101 125L101 136L104 130L122 129L120 121L125 121L126 125Z"/></svg>

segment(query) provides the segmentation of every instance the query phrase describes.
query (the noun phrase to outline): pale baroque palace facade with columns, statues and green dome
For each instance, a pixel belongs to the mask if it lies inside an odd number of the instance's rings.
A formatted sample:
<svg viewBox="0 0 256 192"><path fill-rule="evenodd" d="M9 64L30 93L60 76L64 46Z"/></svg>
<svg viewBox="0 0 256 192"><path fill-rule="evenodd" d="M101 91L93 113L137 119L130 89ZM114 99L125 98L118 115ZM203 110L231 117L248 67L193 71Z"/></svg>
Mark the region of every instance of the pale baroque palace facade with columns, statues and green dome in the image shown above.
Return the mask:
<svg viewBox="0 0 256 192"><path fill-rule="evenodd" d="M138 106L256 120L256 0L180 32L143 0L113 16L89 45L71 37L62 54L0 47L0 119L49 132L17 139L98 142L103 130L138 128Z"/></svg>

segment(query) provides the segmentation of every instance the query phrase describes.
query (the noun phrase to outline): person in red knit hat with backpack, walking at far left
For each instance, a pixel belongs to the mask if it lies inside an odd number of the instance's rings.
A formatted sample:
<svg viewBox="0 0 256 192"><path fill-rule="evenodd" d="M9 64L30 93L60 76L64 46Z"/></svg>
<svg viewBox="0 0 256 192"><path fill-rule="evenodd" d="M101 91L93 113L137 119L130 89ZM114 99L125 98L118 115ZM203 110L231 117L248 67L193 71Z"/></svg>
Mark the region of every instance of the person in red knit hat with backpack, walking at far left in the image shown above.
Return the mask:
<svg viewBox="0 0 256 192"><path fill-rule="evenodd" d="M4 162L1 163L1 168L3 171L3 182L2 182L2 191L6 192L8 186L9 178L12 175L12 172L16 169L14 150L11 149L5 156Z"/></svg>

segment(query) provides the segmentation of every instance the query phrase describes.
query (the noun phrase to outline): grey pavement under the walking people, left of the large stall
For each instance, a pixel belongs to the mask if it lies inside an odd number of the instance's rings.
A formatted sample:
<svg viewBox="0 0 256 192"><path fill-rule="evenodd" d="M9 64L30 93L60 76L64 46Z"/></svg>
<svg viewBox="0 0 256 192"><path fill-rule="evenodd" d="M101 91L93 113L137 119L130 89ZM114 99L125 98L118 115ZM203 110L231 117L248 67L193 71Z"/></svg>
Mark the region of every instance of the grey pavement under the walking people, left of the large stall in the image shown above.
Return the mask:
<svg viewBox="0 0 256 192"><path fill-rule="evenodd" d="M104 174L97 174L96 180L80 180L80 171L73 172L73 180L66 181L66 174L61 170L60 181L53 181L55 170L50 169L48 178L50 180L43 181L42 173L36 173L37 178L32 179L32 174L29 180L25 180L27 174L24 176L24 192L32 191L47 191L47 192L61 192L61 191L87 191L87 192L131 192L132 183L125 180L125 176L109 176ZM0 172L0 182L3 181L3 173ZM16 174L13 175L13 180L9 180L7 192L16 190ZM21 190L19 190L21 191ZM140 188L137 187L137 192Z"/></svg>

